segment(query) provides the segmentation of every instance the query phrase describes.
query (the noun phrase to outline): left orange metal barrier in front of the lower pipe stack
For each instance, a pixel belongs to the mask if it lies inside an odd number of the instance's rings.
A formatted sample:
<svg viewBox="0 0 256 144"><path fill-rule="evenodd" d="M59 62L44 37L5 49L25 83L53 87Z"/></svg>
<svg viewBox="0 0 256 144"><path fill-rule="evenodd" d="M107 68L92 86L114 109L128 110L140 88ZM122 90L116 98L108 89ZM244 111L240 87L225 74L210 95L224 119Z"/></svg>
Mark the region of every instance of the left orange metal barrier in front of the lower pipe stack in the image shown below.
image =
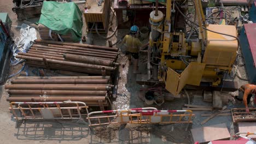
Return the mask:
<svg viewBox="0 0 256 144"><path fill-rule="evenodd" d="M12 102L9 110L17 120L22 119L78 119L88 115L88 106L80 101L63 102ZM86 114L82 114L86 111ZM17 113L20 112L21 116Z"/></svg>

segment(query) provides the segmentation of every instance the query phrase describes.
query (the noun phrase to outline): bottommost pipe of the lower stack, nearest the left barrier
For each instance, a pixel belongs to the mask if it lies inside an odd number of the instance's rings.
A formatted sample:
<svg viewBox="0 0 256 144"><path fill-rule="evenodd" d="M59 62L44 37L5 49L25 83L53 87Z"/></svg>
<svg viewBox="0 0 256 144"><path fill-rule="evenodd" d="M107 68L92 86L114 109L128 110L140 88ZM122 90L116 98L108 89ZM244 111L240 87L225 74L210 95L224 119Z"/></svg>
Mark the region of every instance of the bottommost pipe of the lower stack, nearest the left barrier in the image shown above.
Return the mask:
<svg viewBox="0 0 256 144"><path fill-rule="evenodd" d="M97 95L88 95L86 97L9 97L7 101L12 102L33 102L33 101L82 101L82 102L97 102L98 100L105 101L105 97L97 96Z"/></svg>

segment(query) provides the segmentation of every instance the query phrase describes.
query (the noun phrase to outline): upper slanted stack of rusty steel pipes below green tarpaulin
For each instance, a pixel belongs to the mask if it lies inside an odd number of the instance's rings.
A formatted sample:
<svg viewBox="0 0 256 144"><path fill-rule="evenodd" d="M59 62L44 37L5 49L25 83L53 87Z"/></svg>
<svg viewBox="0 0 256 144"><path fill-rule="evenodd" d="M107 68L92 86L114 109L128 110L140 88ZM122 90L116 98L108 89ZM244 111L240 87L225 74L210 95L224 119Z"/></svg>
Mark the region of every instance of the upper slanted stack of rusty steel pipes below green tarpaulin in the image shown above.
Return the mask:
<svg viewBox="0 0 256 144"><path fill-rule="evenodd" d="M33 67L110 75L118 66L117 51L107 46L35 40L27 53L19 52L16 58Z"/></svg>

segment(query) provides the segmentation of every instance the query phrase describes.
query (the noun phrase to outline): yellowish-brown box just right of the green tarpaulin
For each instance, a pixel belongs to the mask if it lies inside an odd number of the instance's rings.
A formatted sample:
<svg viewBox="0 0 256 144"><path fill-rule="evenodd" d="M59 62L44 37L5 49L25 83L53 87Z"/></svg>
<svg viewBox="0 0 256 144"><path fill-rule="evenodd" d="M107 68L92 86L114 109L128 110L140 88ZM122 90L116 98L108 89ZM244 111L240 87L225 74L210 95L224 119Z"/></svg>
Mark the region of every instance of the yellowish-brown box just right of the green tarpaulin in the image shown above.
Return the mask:
<svg viewBox="0 0 256 144"><path fill-rule="evenodd" d="M100 1L100 0L98 0ZM84 19L87 25L87 31L91 30L92 23L98 23L98 29L104 29L107 32L109 15L110 15L110 0L104 0L101 6L98 6L95 0L88 0L85 3ZM95 31L95 26L92 28Z"/></svg>

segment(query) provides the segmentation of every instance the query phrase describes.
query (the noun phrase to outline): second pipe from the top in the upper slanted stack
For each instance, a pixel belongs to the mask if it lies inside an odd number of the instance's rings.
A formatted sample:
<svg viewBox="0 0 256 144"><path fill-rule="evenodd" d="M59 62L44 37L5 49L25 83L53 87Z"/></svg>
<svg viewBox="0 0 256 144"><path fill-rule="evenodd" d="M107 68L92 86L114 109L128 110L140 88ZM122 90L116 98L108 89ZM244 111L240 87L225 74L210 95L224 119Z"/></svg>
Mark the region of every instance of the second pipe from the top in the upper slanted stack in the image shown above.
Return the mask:
<svg viewBox="0 0 256 144"><path fill-rule="evenodd" d="M101 52L101 53L111 53L114 55L118 55L118 52L114 51L108 51L108 50L98 50L98 49L90 49L90 48L85 48L85 47L78 47L78 46L69 46L69 45L51 45L48 44L48 46L51 47L59 47L59 48L65 48L65 49L75 49L75 50L86 50L86 51L94 51L94 52Z"/></svg>

